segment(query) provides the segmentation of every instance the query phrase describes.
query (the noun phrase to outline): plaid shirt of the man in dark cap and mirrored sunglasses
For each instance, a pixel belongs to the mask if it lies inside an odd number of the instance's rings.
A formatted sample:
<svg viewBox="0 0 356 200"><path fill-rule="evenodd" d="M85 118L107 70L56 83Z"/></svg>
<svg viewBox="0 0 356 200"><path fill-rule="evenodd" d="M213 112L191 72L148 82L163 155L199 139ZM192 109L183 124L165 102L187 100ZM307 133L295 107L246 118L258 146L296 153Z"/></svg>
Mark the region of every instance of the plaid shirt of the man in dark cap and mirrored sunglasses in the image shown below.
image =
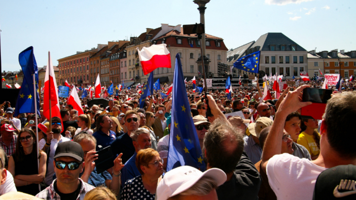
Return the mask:
<svg viewBox="0 0 356 200"><path fill-rule="evenodd" d="M60 200L60 196L59 194L56 193L56 190L54 190L54 182L57 181L57 179L53 180L52 184L48 187L46 187L46 189L42 190L40 193L38 193L36 195L36 197L38 198L42 198L45 200L51 200L51 199L55 199L55 200ZM77 200L82 200L84 199L84 196L87 192L89 192L90 190L94 189L95 187L85 183L82 179L79 178L79 181L82 182L82 187L80 188L80 192L79 195L77 197Z"/></svg>

